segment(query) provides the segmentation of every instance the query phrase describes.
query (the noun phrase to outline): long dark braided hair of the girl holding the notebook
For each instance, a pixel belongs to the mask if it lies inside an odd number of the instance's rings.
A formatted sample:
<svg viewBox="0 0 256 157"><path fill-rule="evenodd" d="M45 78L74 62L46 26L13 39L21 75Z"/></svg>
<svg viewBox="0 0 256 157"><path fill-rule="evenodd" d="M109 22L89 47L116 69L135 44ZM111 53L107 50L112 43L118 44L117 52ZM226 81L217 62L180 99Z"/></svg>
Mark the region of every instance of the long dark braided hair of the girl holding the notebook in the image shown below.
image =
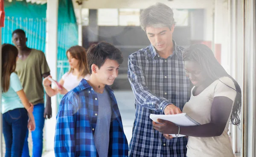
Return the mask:
<svg viewBox="0 0 256 157"><path fill-rule="evenodd" d="M204 71L206 71L207 75L212 81L218 80L220 77L229 77L233 80L236 89L227 85L236 91L236 98L230 120L233 125L239 125L241 122L239 119L239 114L241 112L241 88L236 80L227 74L227 71L225 71L221 64L218 63L212 50L204 44L193 44L183 53L183 61L197 62L204 69Z"/></svg>

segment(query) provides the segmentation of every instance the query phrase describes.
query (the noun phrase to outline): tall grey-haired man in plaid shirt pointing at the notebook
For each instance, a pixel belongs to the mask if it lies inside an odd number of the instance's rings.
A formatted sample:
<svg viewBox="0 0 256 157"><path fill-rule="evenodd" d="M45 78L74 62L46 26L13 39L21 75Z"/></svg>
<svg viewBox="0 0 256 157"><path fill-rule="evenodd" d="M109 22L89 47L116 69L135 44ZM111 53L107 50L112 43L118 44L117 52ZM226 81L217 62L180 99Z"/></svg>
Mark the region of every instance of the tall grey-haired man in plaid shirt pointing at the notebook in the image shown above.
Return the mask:
<svg viewBox="0 0 256 157"><path fill-rule="evenodd" d="M172 40L173 11L157 3L144 9L140 25L151 43L131 54L128 78L135 95L135 122L130 157L186 157L186 137L154 130L150 114L178 114L190 97L183 67L183 48Z"/></svg>

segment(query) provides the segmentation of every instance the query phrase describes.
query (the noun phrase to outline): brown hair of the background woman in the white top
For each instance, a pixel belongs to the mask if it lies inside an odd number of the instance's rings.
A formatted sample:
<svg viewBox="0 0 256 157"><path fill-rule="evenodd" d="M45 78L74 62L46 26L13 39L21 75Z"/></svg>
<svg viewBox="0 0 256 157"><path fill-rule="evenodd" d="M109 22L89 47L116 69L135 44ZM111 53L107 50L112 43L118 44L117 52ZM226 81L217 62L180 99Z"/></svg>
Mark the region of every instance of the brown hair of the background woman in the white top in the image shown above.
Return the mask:
<svg viewBox="0 0 256 157"><path fill-rule="evenodd" d="M82 46L72 46L70 49L67 50L67 52L70 53L72 57L79 60L79 77L85 77L87 74L90 74L88 63L87 63L87 57L86 57L86 49L84 49ZM67 55L66 52L66 55ZM74 71L73 68L70 69L69 72Z"/></svg>

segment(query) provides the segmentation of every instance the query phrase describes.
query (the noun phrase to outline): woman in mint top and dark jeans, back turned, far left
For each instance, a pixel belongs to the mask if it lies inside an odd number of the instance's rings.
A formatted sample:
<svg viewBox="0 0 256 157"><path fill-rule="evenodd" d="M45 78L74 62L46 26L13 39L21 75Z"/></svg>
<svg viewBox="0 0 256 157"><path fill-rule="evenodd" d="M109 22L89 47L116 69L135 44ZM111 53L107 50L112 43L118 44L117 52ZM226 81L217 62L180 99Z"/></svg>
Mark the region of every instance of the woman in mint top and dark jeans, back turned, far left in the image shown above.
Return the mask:
<svg viewBox="0 0 256 157"><path fill-rule="evenodd" d="M17 56L15 46L3 44L1 90L6 157L21 157L27 127L31 131L35 130L33 105L29 103L19 77L14 72Z"/></svg>

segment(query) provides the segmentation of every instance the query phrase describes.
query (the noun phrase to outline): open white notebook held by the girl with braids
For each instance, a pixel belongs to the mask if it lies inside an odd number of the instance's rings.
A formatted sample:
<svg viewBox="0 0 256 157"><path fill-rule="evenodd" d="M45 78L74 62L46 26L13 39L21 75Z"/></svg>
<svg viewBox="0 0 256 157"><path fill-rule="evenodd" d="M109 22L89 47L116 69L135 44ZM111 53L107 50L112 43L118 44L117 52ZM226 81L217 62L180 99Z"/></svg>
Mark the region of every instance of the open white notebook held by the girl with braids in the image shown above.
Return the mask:
<svg viewBox="0 0 256 157"><path fill-rule="evenodd" d="M197 121L193 120L191 117L189 117L186 113L181 113L181 114L150 114L150 119L153 120L154 122L157 122L157 119L162 119L162 120L168 120L172 123L175 123L177 126L199 126L200 123ZM170 134L172 137L176 137L175 134ZM186 135L179 134L178 137L183 137Z"/></svg>

